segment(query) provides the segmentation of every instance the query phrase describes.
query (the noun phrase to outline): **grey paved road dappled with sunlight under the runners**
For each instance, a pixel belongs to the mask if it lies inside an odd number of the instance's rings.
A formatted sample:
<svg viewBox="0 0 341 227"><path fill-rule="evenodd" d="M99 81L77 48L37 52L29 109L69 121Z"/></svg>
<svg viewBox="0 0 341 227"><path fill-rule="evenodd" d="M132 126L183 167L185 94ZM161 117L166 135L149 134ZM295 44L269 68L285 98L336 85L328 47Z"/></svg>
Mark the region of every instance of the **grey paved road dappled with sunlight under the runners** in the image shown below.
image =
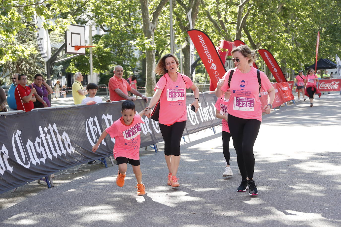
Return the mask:
<svg viewBox="0 0 341 227"><path fill-rule="evenodd" d="M299 102L263 116L254 146L258 196L236 191L241 177L232 143L235 175L222 177L218 127L182 142L178 188L166 185L163 153L141 149L145 196L135 194L131 167L119 188L117 166L84 165L59 173L54 188L32 182L1 194L0 225L341 226L340 110L341 96L332 92L313 108Z"/></svg>

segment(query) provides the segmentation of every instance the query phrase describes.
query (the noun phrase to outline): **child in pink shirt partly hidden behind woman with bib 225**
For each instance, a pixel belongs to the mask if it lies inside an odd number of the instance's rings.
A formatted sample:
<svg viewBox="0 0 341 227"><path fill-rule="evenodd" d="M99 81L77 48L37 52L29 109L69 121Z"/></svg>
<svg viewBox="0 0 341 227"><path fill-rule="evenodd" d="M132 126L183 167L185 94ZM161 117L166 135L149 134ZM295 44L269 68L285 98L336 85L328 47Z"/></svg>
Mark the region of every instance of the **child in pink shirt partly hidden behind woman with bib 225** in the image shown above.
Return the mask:
<svg viewBox="0 0 341 227"><path fill-rule="evenodd" d="M231 133L230 133L230 130L228 129L228 124L227 124L227 103L229 101L230 95L231 95L230 91L227 90L225 92L225 95L218 98L216 104L214 105L214 107L217 108L216 117L223 119L221 138L223 140L223 154L224 154L224 160L225 160L225 166L226 166L224 173L223 173L223 177L233 175L232 169L230 167L230 151L228 149L230 139L231 139Z"/></svg>

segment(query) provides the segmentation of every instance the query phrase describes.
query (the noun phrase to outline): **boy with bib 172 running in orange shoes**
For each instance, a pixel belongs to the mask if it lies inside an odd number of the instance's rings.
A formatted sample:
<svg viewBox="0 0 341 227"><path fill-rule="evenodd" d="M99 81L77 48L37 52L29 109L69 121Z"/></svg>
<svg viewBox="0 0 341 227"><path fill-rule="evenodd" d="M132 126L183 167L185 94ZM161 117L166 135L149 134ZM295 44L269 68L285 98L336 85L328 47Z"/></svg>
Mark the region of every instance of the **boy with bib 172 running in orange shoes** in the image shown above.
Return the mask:
<svg viewBox="0 0 341 227"><path fill-rule="evenodd" d="M142 183L142 172L140 169L140 133L142 121L142 115L145 110L135 115L135 104L131 100L125 100L122 102L122 117L116 120L111 126L105 129L99 137L97 143L93 145L92 151L95 152L102 140L107 134L112 138L115 137L114 145L114 157L118 165L118 175L116 178L116 184L119 187L124 185L125 172L127 172L127 163L133 167L137 184L137 195L145 195L146 187Z"/></svg>

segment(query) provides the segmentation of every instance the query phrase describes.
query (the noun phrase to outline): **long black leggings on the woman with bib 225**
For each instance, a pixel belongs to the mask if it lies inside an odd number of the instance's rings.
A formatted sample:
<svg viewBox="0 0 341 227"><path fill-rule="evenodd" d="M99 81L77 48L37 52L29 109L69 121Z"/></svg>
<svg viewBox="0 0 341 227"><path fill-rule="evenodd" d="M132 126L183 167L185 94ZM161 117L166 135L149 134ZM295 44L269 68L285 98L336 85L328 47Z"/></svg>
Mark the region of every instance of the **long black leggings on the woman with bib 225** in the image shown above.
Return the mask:
<svg viewBox="0 0 341 227"><path fill-rule="evenodd" d="M256 141L261 121L227 115L228 128L237 153L237 163L243 179L253 178L255 157L253 145Z"/></svg>

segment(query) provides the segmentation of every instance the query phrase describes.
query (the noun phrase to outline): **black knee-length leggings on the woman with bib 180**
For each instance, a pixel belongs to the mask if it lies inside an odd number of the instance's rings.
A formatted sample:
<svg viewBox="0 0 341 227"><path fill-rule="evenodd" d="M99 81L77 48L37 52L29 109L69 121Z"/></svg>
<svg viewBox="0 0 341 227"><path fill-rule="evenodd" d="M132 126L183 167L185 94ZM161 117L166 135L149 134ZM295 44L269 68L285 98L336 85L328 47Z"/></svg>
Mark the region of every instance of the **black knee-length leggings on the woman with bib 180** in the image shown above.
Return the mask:
<svg viewBox="0 0 341 227"><path fill-rule="evenodd" d="M186 127L186 120L176 122L173 125L159 123L163 141L165 142L165 155L180 155L180 141L183 130Z"/></svg>

